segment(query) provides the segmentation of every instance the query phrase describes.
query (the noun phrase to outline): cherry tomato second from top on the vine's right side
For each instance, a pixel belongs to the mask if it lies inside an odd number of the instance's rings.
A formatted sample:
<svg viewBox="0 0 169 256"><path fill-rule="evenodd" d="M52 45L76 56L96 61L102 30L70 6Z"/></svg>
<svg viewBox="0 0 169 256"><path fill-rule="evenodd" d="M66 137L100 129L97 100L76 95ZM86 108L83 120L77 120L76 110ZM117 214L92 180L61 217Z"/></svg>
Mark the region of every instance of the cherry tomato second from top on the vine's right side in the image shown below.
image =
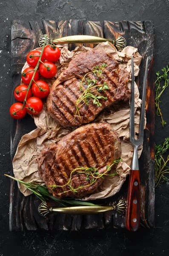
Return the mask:
<svg viewBox="0 0 169 256"><path fill-rule="evenodd" d="M46 66L44 66L44 64ZM53 76L55 76L57 72L57 67L55 66L55 64L49 61L45 61L44 64L40 64L40 75L46 78L52 78Z"/></svg>

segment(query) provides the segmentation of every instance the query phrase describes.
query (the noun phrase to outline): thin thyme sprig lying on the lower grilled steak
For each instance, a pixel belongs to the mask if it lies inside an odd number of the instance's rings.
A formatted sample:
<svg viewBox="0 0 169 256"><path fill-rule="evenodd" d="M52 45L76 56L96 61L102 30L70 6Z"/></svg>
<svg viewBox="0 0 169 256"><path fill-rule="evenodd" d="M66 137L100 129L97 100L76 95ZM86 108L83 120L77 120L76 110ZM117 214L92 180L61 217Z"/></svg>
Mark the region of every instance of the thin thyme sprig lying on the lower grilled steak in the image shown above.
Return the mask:
<svg viewBox="0 0 169 256"><path fill-rule="evenodd" d="M107 172L109 172L112 168L112 166L114 166L115 164L119 163L122 159L118 159L118 160L115 160L111 166L106 166L106 171L103 172L102 174L100 174L98 172L98 169L95 168L95 167L86 167L86 166L79 166L78 168L76 169L73 169L71 174L70 174L70 178L68 180L68 182L64 185L51 185L50 187L53 189L56 189L57 187L66 187L68 186L69 187L69 190L66 190L66 191L63 191L61 193L58 193L57 195L61 195L61 194L64 194L64 193L67 193L69 191L73 191L75 193L78 192L79 189L81 188L85 188L87 186L92 186L99 178L103 178L103 176L114 176L116 175L117 173L114 172L114 173L111 173L111 174L108 174ZM74 172L77 172L78 174L85 174L86 175L86 180L89 181L89 183L87 185L84 185L84 184L81 184L80 186L78 186L77 188L73 188L72 185L70 185L70 182L72 180L72 174Z"/></svg>

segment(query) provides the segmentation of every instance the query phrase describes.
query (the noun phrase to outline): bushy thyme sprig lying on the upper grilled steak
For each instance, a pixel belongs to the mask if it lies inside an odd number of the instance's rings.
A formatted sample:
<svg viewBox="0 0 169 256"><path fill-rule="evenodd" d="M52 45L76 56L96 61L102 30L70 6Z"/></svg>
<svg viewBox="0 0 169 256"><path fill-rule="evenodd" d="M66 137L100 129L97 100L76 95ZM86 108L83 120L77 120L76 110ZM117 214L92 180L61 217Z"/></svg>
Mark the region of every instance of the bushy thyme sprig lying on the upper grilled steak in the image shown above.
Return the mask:
<svg viewBox="0 0 169 256"><path fill-rule="evenodd" d="M107 97L100 96L99 94L94 94L96 92L105 92L105 90L109 90L109 87L106 82L103 84L97 84L97 80L95 79L90 79L87 77L89 74L94 73L95 76L99 77L101 76L104 67L106 67L107 64L103 63L100 67L96 66L94 67L94 70L91 72L88 72L83 76L83 79L80 81L80 92L83 92L80 97L76 101L76 113L74 117L78 114L80 116L79 109L84 105L89 105L89 99L93 100L93 104L95 104L97 107L102 106L100 103L100 99L107 99ZM86 88L87 87L87 88Z"/></svg>

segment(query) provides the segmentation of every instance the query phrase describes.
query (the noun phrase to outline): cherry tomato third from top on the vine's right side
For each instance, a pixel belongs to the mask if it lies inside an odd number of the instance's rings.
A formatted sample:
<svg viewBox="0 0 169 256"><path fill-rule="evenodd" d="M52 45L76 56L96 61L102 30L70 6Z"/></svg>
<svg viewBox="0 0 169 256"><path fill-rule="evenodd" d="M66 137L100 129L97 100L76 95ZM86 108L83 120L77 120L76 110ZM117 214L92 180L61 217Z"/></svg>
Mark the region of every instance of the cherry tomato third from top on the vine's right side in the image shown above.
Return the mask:
<svg viewBox="0 0 169 256"><path fill-rule="evenodd" d="M36 96L38 98L45 98L46 96L48 96L50 89L46 82L38 80L38 81L36 81L36 84L34 83L32 85L32 92L33 92L34 96Z"/></svg>

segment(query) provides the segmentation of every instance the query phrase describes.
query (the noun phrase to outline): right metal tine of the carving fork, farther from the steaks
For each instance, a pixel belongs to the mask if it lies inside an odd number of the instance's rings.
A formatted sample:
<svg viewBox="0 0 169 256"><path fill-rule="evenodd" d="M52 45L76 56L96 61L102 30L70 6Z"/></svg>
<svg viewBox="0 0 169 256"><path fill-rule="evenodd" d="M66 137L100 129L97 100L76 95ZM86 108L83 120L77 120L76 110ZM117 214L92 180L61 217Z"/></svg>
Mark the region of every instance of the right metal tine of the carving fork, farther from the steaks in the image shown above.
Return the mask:
<svg viewBox="0 0 169 256"><path fill-rule="evenodd" d="M141 116L140 116L140 132L139 132L139 142L143 143L144 136L144 113L145 113L145 102L146 102L146 85L147 85L147 73L148 73L148 60L146 60L146 70L144 74L143 81L143 95L142 95L142 104L141 104Z"/></svg>

